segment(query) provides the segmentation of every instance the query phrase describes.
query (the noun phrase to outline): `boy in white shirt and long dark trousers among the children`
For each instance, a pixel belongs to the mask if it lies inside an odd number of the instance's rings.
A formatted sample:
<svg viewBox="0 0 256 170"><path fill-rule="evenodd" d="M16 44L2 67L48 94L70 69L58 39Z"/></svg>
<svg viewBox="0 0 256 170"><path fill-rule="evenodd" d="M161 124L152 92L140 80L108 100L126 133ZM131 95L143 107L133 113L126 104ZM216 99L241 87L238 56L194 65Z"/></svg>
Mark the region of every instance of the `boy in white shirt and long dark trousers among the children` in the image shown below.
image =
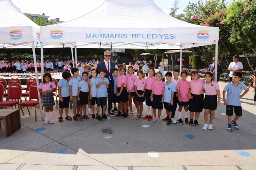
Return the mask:
<svg viewBox="0 0 256 170"><path fill-rule="evenodd" d="M172 84L175 86L175 92L173 95L172 115L171 115L172 123L177 123L176 118L175 118L175 112L176 112L177 105L178 105L178 94L177 94L177 89L176 89L178 81L181 81L181 78L179 78L179 69L176 68L173 70L173 78L171 79Z"/></svg>

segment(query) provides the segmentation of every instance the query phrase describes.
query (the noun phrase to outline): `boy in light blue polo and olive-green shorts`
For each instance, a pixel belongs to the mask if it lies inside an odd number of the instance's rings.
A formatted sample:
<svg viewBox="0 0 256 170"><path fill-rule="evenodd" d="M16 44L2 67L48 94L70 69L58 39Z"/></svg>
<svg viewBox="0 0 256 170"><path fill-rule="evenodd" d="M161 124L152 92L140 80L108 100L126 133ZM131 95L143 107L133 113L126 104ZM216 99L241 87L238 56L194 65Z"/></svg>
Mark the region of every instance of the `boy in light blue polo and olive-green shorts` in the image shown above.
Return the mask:
<svg viewBox="0 0 256 170"><path fill-rule="evenodd" d="M72 101L72 110L73 110L73 119L78 121L79 115L79 107L80 107L80 102L78 101L78 84L81 81L81 78L78 77L79 70L78 68L73 67L71 69L71 73L73 74L73 77L68 81L68 86L69 86L69 94L70 97L69 99ZM77 114L75 114L77 110Z"/></svg>

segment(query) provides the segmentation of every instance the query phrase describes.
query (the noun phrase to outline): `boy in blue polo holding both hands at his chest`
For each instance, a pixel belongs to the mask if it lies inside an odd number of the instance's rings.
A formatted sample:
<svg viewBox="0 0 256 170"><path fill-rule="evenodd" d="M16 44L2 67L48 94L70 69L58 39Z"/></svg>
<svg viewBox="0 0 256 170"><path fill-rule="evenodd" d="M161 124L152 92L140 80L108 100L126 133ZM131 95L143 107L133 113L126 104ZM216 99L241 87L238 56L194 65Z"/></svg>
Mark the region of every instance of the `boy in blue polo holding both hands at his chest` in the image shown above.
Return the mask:
<svg viewBox="0 0 256 170"><path fill-rule="evenodd" d="M105 78L106 70L100 69L99 70L99 78L96 79L96 88L97 88L97 120L108 119L106 117L105 111L106 111L106 99L108 97L108 88L109 88L109 80ZM102 118L99 115L99 107L102 107Z"/></svg>

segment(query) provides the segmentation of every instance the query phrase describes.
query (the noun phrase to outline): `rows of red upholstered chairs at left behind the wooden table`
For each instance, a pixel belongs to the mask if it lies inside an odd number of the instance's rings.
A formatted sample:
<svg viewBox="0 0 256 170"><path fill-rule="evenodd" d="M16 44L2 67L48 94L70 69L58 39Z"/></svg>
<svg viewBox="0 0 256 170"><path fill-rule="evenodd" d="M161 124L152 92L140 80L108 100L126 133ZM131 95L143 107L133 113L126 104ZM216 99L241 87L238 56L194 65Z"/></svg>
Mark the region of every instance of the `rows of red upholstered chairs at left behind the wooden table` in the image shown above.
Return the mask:
<svg viewBox="0 0 256 170"><path fill-rule="evenodd" d="M53 79L53 82L55 83L56 87L58 86L58 81L56 79ZM6 93L6 89L8 90ZM22 93L23 90L26 90L25 93ZM59 95L57 94L57 89L53 95L56 97L56 107L58 109L58 100L57 97ZM4 102L3 99L6 98L6 101ZM22 102L22 97L25 98L25 102ZM29 100L27 101L26 98L29 97ZM42 94L41 94L42 97ZM35 100L36 99L36 100ZM35 107L35 120L37 121L36 117L36 109L39 108L39 101L38 101L38 93L37 93L37 84L35 78L30 78L26 81L26 89L21 86L21 81L18 78L12 78L8 81L8 87L7 87L7 81L5 79L0 79L0 108L7 108L7 107L13 107L19 106L19 109L22 110L22 108L27 107L29 115L29 107ZM10 101L14 100L14 101ZM16 101L17 100L17 101ZM22 110L23 116L24 112Z"/></svg>

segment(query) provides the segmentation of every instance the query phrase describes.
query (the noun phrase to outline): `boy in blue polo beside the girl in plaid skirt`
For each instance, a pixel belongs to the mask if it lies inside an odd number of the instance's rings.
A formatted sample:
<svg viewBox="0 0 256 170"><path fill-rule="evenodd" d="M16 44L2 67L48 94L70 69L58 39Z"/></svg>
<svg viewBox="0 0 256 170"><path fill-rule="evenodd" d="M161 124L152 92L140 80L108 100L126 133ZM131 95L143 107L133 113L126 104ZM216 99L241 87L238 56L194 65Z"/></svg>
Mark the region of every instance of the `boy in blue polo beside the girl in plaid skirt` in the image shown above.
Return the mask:
<svg viewBox="0 0 256 170"><path fill-rule="evenodd" d="M69 86L68 81L71 79L71 73L68 71L64 71L62 73L62 79L58 84L58 92L60 96L60 117L59 122L63 122L62 113L65 108L66 118L67 120L72 120L70 116L68 116L68 107L69 107Z"/></svg>

